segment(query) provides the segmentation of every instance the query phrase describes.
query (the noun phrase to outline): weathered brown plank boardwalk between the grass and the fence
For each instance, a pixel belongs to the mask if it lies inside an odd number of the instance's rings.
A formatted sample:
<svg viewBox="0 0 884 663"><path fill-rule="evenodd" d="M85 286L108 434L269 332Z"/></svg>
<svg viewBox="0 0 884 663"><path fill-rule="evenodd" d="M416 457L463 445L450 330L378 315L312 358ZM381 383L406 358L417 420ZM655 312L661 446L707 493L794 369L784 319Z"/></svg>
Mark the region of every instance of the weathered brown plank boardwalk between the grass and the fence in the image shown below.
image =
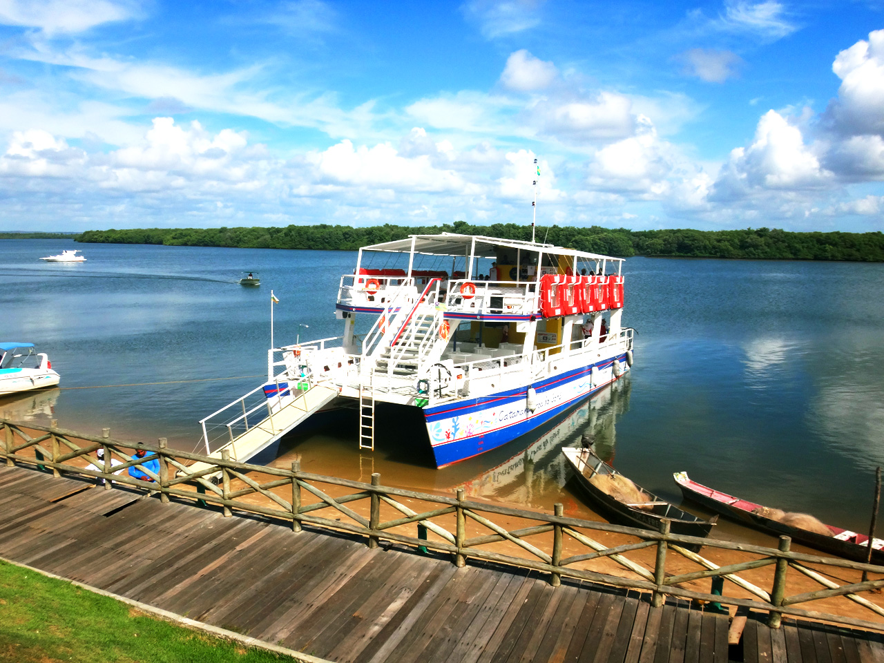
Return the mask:
<svg viewBox="0 0 884 663"><path fill-rule="evenodd" d="M728 661L728 617L636 591L0 469L0 556L334 661ZM884 638L750 619L737 660L884 661Z"/></svg>

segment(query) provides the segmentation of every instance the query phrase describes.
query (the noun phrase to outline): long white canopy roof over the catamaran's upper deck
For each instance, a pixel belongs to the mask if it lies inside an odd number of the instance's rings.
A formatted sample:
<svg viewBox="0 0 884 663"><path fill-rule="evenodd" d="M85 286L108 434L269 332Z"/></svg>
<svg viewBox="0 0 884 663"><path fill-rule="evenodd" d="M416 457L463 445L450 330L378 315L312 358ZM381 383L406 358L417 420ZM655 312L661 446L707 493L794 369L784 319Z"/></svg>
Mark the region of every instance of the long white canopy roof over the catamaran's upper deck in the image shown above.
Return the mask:
<svg viewBox="0 0 884 663"><path fill-rule="evenodd" d="M470 251L473 242L475 248ZM599 255L586 251L577 251L574 248L556 247L552 244L543 244L535 241L524 240L500 240L496 237L484 237L482 235L461 235L456 232L442 232L438 235L408 235L406 240L385 241L381 244L373 244L362 247L363 251L383 251L391 253L411 253L414 247L415 253L424 255L474 255L478 258L494 258L497 256L495 247L515 248L522 251L544 253L547 255L573 255L587 260L612 260L622 263L622 258L614 258L610 255Z"/></svg>

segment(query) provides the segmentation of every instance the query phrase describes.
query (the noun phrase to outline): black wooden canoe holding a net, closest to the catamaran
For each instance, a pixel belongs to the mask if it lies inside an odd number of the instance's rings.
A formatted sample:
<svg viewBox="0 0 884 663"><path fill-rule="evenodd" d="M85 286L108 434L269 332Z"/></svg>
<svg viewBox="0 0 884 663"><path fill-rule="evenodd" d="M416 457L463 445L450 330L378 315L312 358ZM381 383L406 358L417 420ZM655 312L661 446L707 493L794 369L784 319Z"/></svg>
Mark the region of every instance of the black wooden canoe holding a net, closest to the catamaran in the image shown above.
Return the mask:
<svg viewBox="0 0 884 663"><path fill-rule="evenodd" d="M601 507L605 515L611 517L612 522L659 531L660 520L667 518L671 521L669 531L673 534L707 537L718 520L716 515L712 520L705 521L652 492L644 491L600 459L591 448L566 446L561 453L575 470L583 491L594 505ZM696 552L700 546L684 547Z"/></svg>

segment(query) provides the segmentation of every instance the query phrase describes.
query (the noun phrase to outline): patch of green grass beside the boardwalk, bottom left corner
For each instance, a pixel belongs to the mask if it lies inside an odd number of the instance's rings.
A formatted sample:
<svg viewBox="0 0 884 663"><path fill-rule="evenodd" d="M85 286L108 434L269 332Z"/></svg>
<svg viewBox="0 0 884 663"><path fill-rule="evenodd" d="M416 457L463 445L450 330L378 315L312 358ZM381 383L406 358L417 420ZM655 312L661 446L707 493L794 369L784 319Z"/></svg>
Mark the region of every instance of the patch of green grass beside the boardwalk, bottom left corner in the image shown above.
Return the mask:
<svg viewBox="0 0 884 663"><path fill-rule="evenodd" d="M186 629L71 583L0 562L0 661L294 661Z"/></svg>

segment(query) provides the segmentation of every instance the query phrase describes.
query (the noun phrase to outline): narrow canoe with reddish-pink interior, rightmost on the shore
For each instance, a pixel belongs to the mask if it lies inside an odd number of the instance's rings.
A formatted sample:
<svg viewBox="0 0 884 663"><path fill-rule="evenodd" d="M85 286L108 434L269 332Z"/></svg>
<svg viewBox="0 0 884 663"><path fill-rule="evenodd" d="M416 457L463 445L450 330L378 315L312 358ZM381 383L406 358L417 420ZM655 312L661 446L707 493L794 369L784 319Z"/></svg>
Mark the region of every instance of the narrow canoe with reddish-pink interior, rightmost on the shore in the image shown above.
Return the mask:
<svg viewBox="0 0 884 663"><path fill-rule="evenodd" d="M676 472L673 478L686 499L726 515L743 525L749 525L775 537L786 535L804 545L849 560L865 561L868 555L869 537L865 534L827 525L809 514L789 514L781 509L763 507L745 499L735 498L726 492L719 492L691 481L687 472ZM788 522L781 522L779 519L786 519ZM807 527L812 527L813 530L808 530ZM831 534L825 534L825 530L829 530ZM880 538L874 539L872 544L872 563L884 564L884 540Z"/></svg>

